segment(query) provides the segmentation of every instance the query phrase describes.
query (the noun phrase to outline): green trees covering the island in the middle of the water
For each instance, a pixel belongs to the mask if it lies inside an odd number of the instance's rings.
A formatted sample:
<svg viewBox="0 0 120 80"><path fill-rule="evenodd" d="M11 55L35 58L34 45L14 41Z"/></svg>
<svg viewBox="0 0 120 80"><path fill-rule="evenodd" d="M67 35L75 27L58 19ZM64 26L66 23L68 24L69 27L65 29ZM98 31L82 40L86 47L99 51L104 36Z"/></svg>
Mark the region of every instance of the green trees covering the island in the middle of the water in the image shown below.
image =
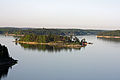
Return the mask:
<svg viewBox="0 0 120 80"><path fill-rule="evenodd" d="M27 34L19 39L19 41L25 42L38 42L38 43L49 43L49 42L67 42L67 43L79 43L77 37L71 36L61 36L61 35L36 35L36 34Z"/></svg>

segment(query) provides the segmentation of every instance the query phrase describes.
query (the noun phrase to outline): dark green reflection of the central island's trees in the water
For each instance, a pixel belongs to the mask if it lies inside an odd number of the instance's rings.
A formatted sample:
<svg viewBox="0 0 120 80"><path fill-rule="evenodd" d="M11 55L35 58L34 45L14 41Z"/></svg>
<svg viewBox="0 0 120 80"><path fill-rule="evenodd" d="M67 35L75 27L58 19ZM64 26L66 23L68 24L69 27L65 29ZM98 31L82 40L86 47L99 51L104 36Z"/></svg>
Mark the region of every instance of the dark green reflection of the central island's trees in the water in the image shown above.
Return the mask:
<svg viewBox="0 0 120 80"><path fill-rule="evenodd" d="M49 46L49 45L31 45L31 44L22 44L20 45L25 48L25 49L30 49L30 50L39 50L39 51L49 51L49 52L60 52L61 50L70 50L76 49L80 50L81 48L67 48L67 47L59 47L59 46Z"/></svg>

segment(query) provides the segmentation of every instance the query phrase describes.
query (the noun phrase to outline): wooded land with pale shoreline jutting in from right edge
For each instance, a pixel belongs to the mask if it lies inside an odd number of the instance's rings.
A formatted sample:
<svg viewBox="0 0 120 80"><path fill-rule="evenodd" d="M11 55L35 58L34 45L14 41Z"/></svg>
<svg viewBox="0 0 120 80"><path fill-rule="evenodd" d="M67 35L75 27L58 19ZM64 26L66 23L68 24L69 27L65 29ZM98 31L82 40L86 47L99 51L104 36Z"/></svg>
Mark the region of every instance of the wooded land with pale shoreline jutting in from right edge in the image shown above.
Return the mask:
<svg viewBox="0 0 120 80"><path fill-rule="evenodd" d="M120 30L101 32L97 35L98 38L120 38Z"/></svg>

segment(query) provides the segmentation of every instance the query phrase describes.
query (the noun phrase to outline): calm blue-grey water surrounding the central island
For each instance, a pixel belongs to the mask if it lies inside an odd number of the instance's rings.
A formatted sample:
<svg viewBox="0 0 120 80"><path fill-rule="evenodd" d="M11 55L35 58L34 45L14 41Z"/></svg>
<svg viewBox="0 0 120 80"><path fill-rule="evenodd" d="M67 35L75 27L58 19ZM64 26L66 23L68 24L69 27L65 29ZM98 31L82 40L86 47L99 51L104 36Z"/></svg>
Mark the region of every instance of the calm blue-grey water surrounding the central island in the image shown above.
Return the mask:
<svg viewBox="0 0 120 80"><path fill-rule="evenodd" d="M0 36L18 64L1 80L120 80L120 40L81 36L93 42L80 49L23 45Z"/></svg>

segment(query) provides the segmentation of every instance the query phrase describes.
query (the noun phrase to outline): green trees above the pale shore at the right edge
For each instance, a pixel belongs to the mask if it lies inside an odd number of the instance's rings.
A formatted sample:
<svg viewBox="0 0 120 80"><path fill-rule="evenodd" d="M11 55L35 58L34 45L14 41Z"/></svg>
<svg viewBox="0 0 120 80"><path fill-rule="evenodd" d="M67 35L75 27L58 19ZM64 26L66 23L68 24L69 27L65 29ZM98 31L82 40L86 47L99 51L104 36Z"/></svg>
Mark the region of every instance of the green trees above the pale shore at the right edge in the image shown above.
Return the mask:
<svg viewBox="0 0 120 80"><path fill-rule="evenodd" d="M98 36L120 36L120 30L101 32Z"/></svg>

